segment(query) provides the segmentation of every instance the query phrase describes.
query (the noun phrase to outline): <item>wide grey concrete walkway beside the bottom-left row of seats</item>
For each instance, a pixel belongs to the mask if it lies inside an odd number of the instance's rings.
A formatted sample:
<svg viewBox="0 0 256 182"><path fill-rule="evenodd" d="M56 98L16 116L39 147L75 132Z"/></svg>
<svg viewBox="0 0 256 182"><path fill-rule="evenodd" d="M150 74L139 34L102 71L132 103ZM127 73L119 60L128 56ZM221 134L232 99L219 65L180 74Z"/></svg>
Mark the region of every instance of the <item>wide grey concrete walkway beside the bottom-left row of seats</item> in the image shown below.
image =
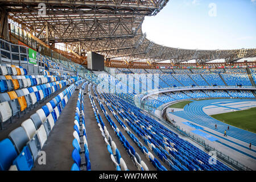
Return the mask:
<svg viewBox="0 0 256 182"><path fill-rule="evenodd" d="M80 87L81 85L77 88ZM32 168L32 171L71 170L73 164L71 154L74 148L72 146L72 141L74 139L73 126L78 94L79 90L75 90L71 98L69 98L68 104L61 112L60 117L57 119L53 130L49 134L47 141L42 148L42 151L46 152L46 165L39 165L38 159L36 159L35 167Z"/></svg>

